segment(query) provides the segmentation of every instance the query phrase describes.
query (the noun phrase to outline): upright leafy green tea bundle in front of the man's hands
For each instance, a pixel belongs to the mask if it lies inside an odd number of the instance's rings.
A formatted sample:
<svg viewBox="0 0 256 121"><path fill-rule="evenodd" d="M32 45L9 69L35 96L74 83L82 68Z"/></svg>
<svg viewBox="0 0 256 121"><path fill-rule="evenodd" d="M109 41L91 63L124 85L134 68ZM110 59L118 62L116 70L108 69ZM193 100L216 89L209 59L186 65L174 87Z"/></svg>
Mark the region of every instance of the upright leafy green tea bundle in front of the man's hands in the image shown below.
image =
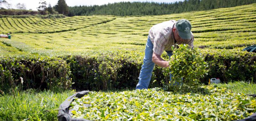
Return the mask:
<svg viewBox="0 0 256 121"><path fill-rule="evenodd" d="M166 72L170 72L173 76L168 83L169 90L177 90L184 84L189 88L182 89L197 89L200 79L207 75L207 63L202 53L197 48L189 48L188 45L180 45L173 49L169 64L170 67Z"/></svg>

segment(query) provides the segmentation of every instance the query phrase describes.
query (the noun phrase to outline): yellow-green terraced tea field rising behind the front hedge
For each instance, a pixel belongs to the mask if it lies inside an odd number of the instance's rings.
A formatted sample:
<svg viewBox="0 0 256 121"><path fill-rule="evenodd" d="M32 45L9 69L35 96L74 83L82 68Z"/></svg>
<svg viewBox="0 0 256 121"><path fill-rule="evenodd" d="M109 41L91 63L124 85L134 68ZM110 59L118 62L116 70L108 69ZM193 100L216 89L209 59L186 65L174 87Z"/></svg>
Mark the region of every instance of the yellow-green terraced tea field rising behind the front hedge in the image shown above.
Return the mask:
<svg viewBox="0 0 256 121"><path fill-rule="evenodd" d="M233 51L256 44L256 4L161 16L0 18L1 33L13 33L11 40L0 40L17 51L52 56L102 50L143 52L151 26L181 18L191 22L194 45L203 50ZM11 53L4 48L1 45L3 55Z"/></svg>

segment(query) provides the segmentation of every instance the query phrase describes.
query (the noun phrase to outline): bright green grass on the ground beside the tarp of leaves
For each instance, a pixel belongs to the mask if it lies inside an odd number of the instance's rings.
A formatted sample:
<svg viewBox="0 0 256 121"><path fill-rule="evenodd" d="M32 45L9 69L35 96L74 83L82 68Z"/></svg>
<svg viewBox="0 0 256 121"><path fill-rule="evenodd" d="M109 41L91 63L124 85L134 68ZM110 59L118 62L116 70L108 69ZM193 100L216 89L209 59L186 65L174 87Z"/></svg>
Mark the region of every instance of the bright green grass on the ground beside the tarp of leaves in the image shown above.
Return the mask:
<svg viewBox="0 0 256 121"><path fill-rule="evenodd" d="M229 82L214 85L231 89L234 93L256 94L255 83ZM120 90L112 90L115 91L120 92ZM57 120L60 104L74 93L73 90L37 92L33 89L25 91L14 89L8 94L0 95L0 120Z"/></svg>

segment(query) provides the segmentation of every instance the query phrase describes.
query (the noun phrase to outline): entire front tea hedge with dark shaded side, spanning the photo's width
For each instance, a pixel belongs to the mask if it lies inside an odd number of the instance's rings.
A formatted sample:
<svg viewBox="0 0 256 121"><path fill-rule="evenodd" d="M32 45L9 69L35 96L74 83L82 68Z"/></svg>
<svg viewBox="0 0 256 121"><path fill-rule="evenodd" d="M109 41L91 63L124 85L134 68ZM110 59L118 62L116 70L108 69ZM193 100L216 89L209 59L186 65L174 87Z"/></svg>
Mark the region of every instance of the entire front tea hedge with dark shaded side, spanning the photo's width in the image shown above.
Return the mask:
<svg viewBox="0 0 256 121"><path fill-rule="evenodd" d="M256 54L234 50L202 49L209 63L208 75L201 79L219 77L222 82L256 80ZM166 54L163 57L167 60ZM136 51L88 52L84 55L56 57L14 56L0 58L1 90L20 86L28 88L71 87L76 89L108 90L135 88L142 65L143 53ZM163 86L164 69L156 66L152 87ZM22 79L21 79L21 78ZM23 85L22 81L23 80ZM156 80L153 82L153 80Z"/></svg>

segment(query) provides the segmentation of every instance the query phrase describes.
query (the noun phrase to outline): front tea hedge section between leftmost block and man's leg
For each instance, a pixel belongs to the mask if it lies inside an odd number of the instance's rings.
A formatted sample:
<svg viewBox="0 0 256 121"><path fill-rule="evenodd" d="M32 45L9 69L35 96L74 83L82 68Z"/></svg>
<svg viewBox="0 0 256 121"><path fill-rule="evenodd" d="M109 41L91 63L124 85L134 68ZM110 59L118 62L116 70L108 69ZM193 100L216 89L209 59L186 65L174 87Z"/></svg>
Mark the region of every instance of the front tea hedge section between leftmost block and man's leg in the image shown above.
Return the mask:
<svg viewBox="0 0 256 121"><path fill-rule="evenodd" d="M101 52L67 56L76 89L107 90L131 88L138 83L141 60L135 53Z"/></svg>

